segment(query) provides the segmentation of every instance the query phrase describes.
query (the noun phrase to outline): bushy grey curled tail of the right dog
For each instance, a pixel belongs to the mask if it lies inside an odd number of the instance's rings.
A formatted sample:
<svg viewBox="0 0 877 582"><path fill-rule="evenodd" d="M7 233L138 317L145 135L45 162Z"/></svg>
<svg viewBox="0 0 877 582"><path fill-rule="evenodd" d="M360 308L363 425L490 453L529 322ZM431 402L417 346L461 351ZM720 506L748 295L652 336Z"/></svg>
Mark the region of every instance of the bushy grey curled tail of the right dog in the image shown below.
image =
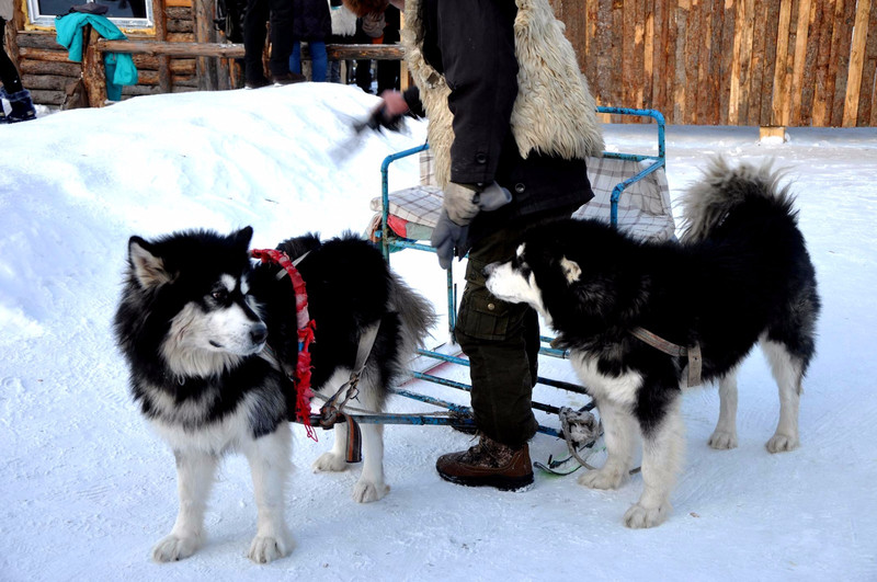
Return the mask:
<svg viewBox="0 0 877 582"><path fill-rule="evenodd" d="M680 199L683 242L697 242L709 237L736 206L752 196L774 198L786 208L793 196L788 185L781 186L782 170L774 170L773 160L760 164L741 162L731 167L722 157L715 157L704 170L703 179Z"/></svg>

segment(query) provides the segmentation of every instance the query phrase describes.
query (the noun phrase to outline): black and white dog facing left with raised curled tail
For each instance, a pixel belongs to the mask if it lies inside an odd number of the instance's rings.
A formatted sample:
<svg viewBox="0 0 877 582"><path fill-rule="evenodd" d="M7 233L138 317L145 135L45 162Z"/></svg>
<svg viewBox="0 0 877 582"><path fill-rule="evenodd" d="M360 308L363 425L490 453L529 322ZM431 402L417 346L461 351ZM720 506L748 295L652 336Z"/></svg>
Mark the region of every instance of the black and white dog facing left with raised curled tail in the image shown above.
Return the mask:
<svg viewBox="0 0 877 582"><path fill-rule="evenodd" d="M793 197L779 179L770 164L715 160L682 201L681 243L640 242L602 222L568 220L531 230L511 262L486 270L493 295L544 316L594 398L608 456L579 482L617 488L641 436L645 489L624 516L628 527L668 517L684 445L680 397L688 360L641 340L642 330L690 353L699 346L702 378L719 386L709 438L719 449L737 446L737 372L760 343L779 387L779 423L767 450L799 444L801 380L820 301Z"/></svg>

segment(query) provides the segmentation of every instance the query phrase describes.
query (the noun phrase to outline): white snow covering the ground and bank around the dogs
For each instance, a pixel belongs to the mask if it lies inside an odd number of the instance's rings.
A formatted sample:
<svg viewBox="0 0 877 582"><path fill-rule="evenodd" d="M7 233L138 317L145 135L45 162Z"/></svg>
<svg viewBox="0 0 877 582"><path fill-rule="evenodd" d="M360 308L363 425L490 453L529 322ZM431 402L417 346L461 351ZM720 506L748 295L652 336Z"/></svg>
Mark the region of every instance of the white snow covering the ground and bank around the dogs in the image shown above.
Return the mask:
<svg viewBox="0 0 877 582"><path fill-rule="evenodd" d="M151 545L175 516L175 476L173 456L128 398L112 338L127 239L252 225L254 246L273 247L307 230L363 230L380 160L425 134L409 124L409 135L368 135L335 163L329 152L350 135L345 115L365 115L375 100L307 83L137 98L0 126L0 580L877 580L874 128L793 128L785 144L760 144L756 128L668 130L673 194L710 153L770 156L789 169L824 305L798 450L764 449L778 402L759 354L740 376L738 448L706 446L716 390L686 393L675 511L649 530L620 523L639 477L611 492L577 484L578 473L537 473L526 493L443 482L435 458L469 445L444 427L387 427L392 490L357 504L358 468L311 473L331 434L317 444L296 426L288 558L246 558L255 506L247 465L231 457L205 547L152 563ZM653 134L606 127L611 147L626 151L651 149ZM414 183L417 172L413 160L400 162L391 186ZM434 256L407 251L392 264L442 309ZM573 379L566 362L544 369ZM582 403L557 390L537 396ZM565 452L543 435L531 447L534 460Z"/></svg>

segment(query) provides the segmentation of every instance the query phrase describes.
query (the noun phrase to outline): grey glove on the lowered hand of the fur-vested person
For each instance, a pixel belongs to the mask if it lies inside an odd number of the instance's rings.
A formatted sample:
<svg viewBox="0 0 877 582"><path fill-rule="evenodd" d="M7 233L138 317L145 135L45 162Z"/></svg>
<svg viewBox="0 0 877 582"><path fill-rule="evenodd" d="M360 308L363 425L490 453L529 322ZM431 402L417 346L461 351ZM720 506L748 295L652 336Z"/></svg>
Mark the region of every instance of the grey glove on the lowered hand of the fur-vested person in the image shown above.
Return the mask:
<svg viewBox="0 0 877 582"><path fill-rule="evenodd" d="M448 184L444 191L442 215L430 239L442 269L451 267L455 248L460 258L466 254L469 222L479 212L496 210L510 202L512 194L496 182L486 189L474 184Z"/></svg>

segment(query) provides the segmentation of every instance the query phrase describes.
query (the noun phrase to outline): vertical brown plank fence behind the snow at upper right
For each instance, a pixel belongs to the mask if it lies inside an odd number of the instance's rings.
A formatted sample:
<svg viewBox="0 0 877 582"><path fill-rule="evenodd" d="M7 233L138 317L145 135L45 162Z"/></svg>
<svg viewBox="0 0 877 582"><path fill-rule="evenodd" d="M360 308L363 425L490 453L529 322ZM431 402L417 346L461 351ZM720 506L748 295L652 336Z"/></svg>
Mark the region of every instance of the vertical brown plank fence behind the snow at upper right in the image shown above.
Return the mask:
<svg viewBox="0 0 877 582"><path fill-rule="evenodd" d="M877 126L877 0L551 0L601 105Z"/></svg>

